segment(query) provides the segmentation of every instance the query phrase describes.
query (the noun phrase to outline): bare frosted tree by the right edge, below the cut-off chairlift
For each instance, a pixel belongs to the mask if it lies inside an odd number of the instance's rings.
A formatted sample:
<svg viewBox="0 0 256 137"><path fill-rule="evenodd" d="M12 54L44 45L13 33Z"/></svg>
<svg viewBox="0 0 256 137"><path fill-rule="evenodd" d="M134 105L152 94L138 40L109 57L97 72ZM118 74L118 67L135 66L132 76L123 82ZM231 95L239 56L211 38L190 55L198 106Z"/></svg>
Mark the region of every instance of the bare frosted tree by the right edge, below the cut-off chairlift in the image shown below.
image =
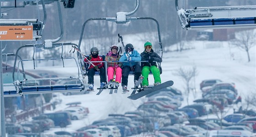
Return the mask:
<svg viewBox="0 0 256 137"><path fill-rule="evenodd" d="M250 62L249 50L251 47L255 46L256 41L256 29L254 30L245 30L235 33L235 40L231 41L232 45L237 46L242 51L246 51L248 56L248 62Z"/></svg>

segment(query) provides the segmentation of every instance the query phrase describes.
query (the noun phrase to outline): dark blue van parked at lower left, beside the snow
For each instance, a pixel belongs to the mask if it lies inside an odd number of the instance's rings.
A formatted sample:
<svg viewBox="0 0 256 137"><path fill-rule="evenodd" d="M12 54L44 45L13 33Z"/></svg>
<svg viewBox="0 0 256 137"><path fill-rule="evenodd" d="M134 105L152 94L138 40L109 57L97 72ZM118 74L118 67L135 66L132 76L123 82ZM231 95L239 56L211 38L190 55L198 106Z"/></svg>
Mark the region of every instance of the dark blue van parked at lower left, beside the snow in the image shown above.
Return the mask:
<svg viewBox="0 0 256 137"><path fill-rule="evenodd" d="M45 113L44 115L52 119L55 126L66 127L71 124L71 116L69 112Z"/></svg>

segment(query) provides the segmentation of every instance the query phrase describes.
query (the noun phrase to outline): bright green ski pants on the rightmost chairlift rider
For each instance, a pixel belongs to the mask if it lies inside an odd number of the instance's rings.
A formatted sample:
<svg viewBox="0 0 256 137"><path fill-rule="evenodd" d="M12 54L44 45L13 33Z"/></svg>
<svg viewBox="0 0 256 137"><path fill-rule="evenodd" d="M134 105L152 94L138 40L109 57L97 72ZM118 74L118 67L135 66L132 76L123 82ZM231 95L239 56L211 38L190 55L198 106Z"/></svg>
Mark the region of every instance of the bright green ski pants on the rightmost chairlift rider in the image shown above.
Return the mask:
<svg viewBox="0 0 256 137"><path fill-rule="evenodd" d="M147 85L149 86L149 81L148 81L148 77L149 77L149 72L152 72L153 76L154 76L154 81L156 82L160 82L161 83L161 78L160 78L160 71L156 66L144 66L142 68L141 71L141 75L144 76L144 80L142 81L142 86Z"/></svg>

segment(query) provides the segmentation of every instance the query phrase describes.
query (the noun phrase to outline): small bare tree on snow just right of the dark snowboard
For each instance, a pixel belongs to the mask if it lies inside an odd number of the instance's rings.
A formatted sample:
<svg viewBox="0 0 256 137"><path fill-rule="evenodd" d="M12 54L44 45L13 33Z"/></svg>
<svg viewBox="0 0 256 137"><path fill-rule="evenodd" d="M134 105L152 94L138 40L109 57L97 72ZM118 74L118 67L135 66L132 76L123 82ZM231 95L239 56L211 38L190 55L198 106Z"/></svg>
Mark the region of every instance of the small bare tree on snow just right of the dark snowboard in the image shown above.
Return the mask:
<svg viewBox="0 0 256 137"><path fill-rule="evenodd" d="M187 104L188 104L188 95L191 89L190 81L194 76L197 76L197 67L193 66L192 68L179 68L173 74L175 76L180 76L186 84L186 93L187 93Z"/></svg>

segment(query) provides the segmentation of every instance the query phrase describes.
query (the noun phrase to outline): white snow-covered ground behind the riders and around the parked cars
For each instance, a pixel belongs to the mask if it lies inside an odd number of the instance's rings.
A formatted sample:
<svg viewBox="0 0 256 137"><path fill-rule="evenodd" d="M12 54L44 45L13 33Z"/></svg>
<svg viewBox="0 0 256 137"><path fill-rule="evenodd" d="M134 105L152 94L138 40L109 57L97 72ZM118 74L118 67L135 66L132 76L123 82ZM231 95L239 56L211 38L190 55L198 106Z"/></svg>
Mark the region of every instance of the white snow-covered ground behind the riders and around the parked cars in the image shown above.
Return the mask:
<svg viewBox="0 0 256 137"><path fill-rule="evenodd" d="M196 66L198 71L198 75L191 83L192 87L196 88L196 96L193 96L192 93L189 95L189 104L192 104L194 99L201 98L202 93L199 84L205 79L218 78L222 81L234 82L242 99L251 93L256 95L256 47L250 50L251 62L248 62L246 52L240 51L235 47L229 47L228 42L190 41L188 44L194 47L194 49L164 53L162 62L162 82L172 80L174 81L173 86L183 91L184 102L182 106L187 105L187 96L185 96L184 92L185 83L180 77L173 75L180 67L191 69L193 66ZM76 68L70 67L70 69L74 70ZM57 70L51 69L51 71L64 73L61 68ZM149 84L153 84L153 77L150 76L149 79ZM132 81L133 76L129 76L128 88L133 86ZM95 87L99 87L99 76L95 76ZM66 103L81 101L81 105L88 107L90 113L88 117L82 120L72 121L72 125L65 129L53 128L47 132L60 130L75 131L80 127L91 124L95 120L106 118L109 113L123 114L127 111L136 110L145 101L145 97L136 101L129 100L127 98L129 94L121 94L121 92L120 88L117 94L112 95L109 95L107 90L103 91L99 96L96 95L96 92L73 96L64 96L59 93L58 97L63 102L54 111L62 110L66 107ZM233 113L233 109L229 108L227 111L229 111L227 114Z"/></svg>

